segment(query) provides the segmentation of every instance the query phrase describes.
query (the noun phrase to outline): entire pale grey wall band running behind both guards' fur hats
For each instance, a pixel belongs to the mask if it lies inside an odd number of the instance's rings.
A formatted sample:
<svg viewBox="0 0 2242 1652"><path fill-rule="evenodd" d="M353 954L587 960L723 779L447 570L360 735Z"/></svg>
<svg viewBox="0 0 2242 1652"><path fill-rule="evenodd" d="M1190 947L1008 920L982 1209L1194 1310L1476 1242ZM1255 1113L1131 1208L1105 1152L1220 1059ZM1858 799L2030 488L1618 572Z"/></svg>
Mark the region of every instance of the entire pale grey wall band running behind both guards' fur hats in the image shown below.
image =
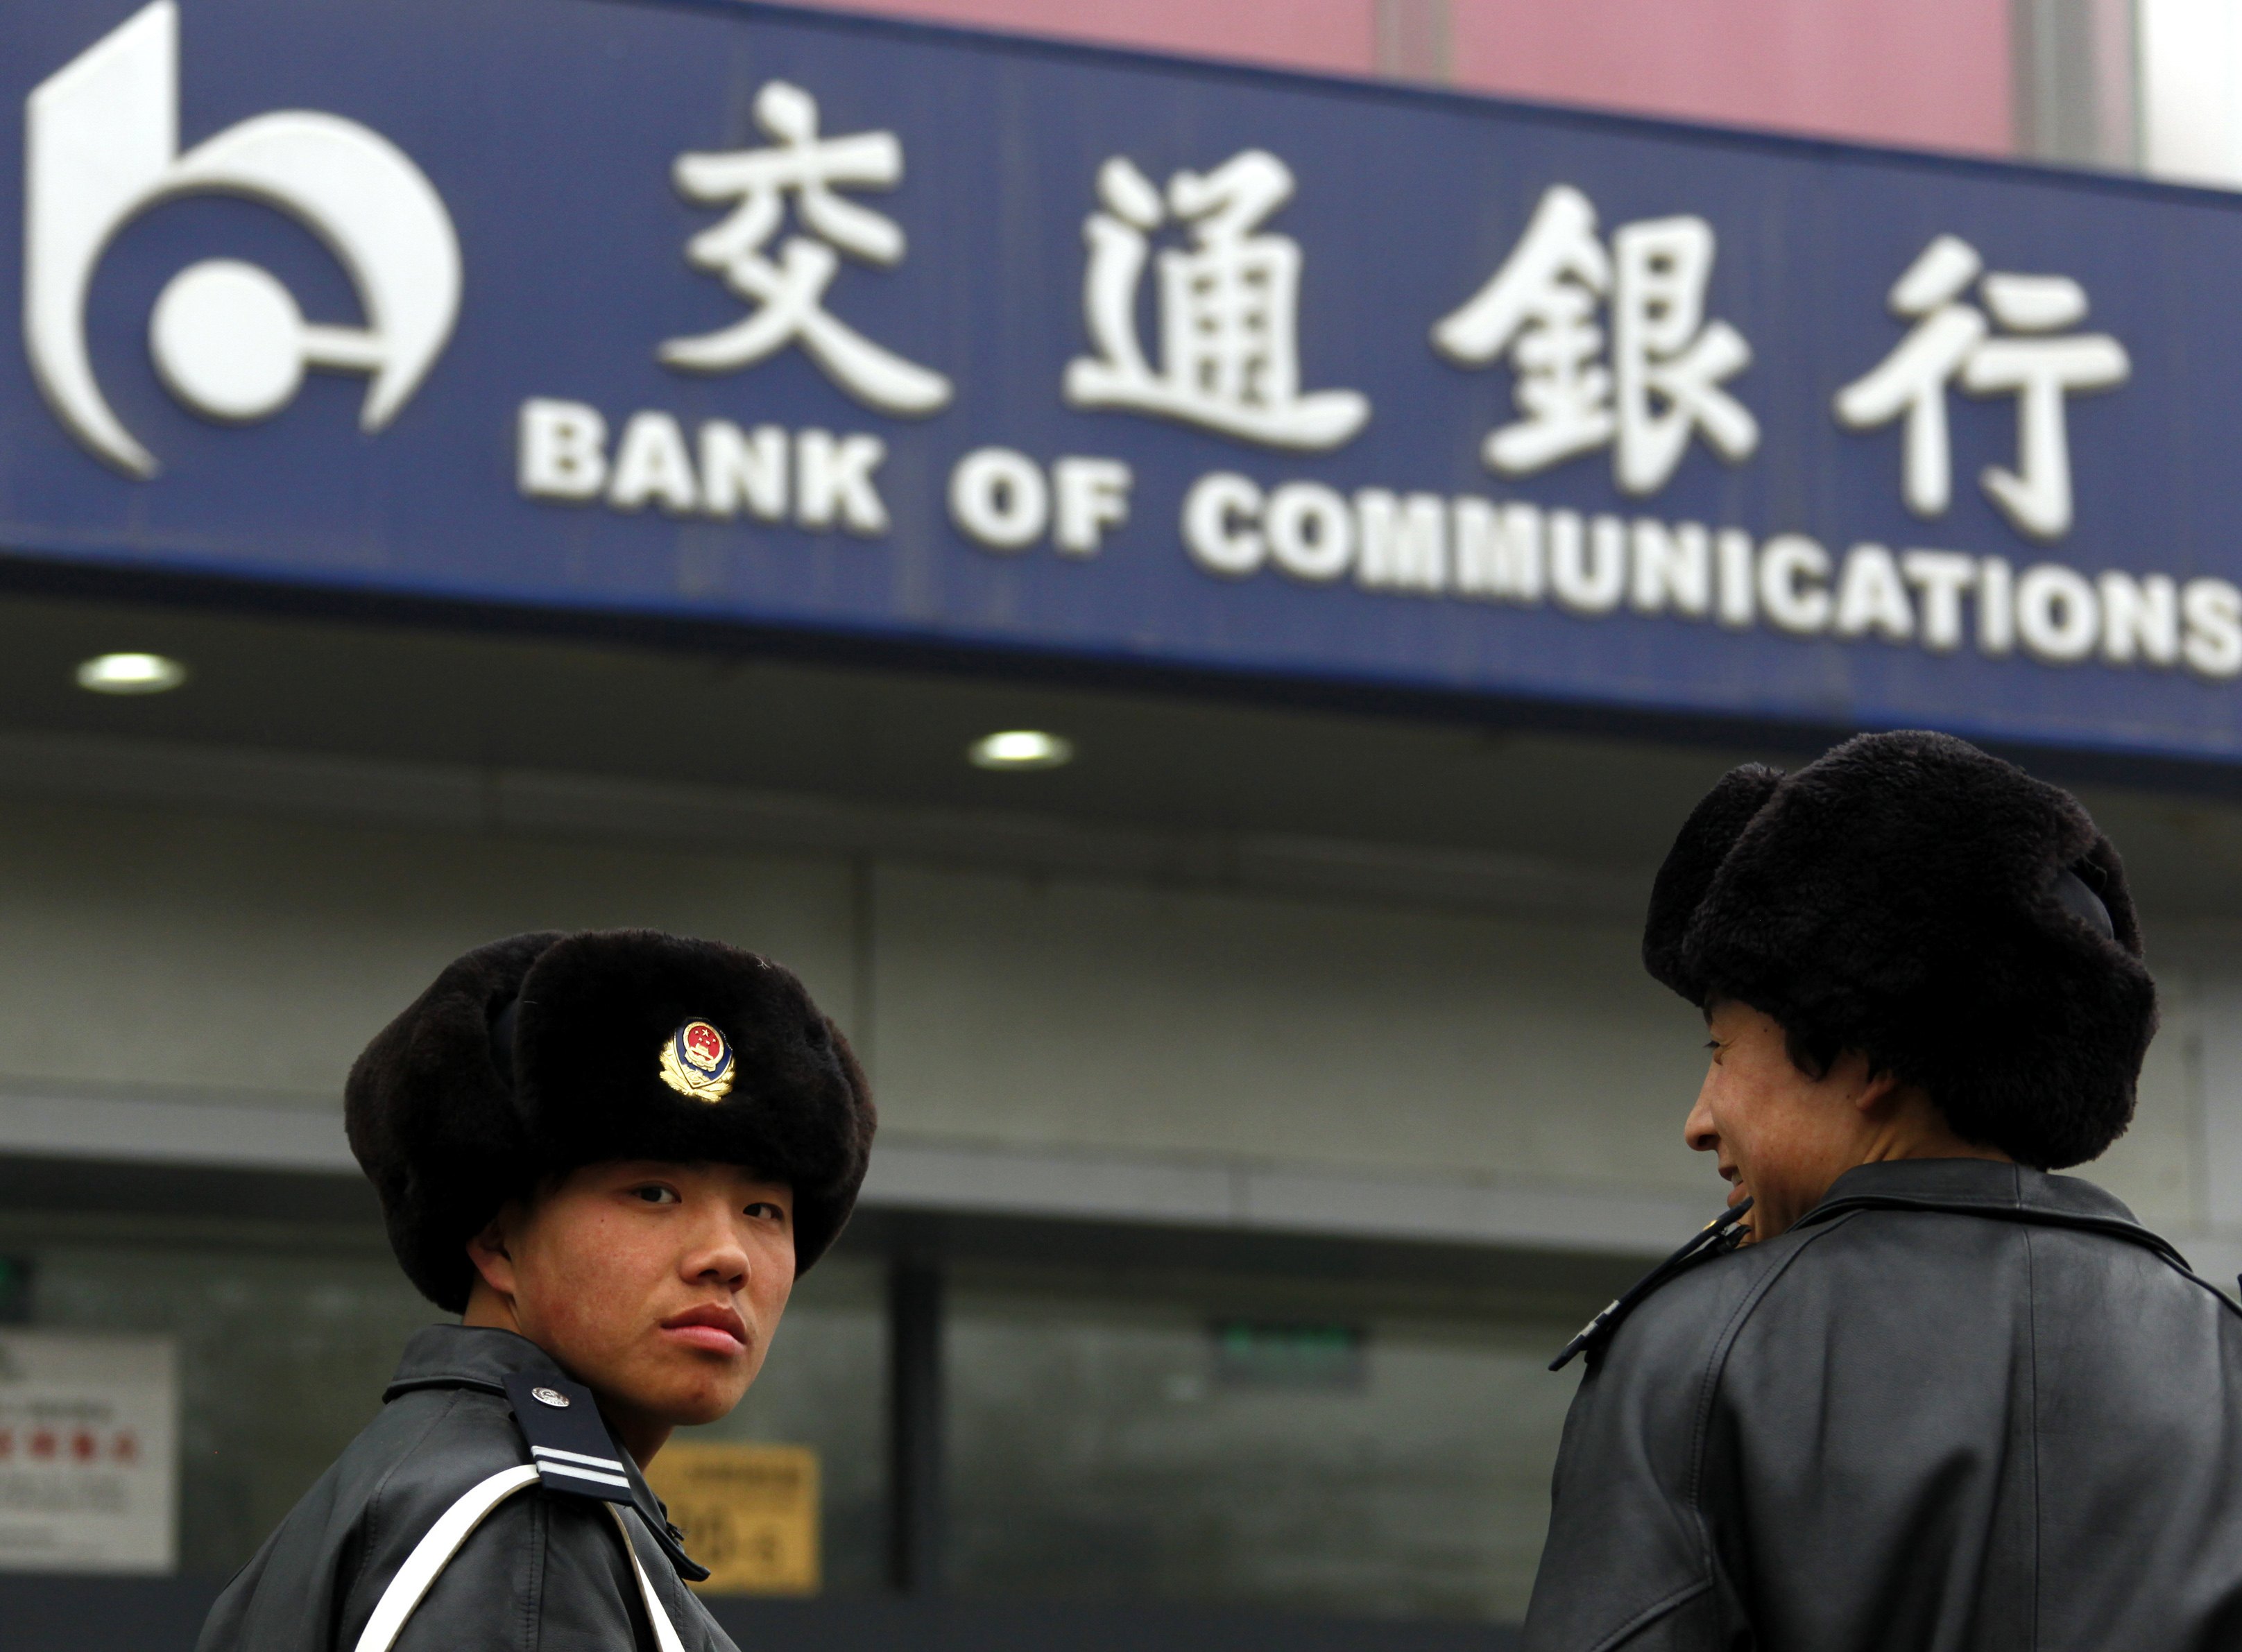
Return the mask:
<svg viewBox="0 0 2242 1652"><path fill-rule="evenodd" d="M1720 1201L1679 1141L1695 1015L1594 910L773 847L738 818L682 841L675 798L614 782L563 818L522 802L552 780L500 807L469 776L262 760L249 796L217 758L45 751L0 796L0 1152L341 1168L350 1058L448 957L652 924L794 964L852 1031L879 1201L1639 1253ZM2096 1168L2217 1242L2242 1049L2204 1002L2242 1002L2235 955L2166 941L2141 1121Z"/></svg>

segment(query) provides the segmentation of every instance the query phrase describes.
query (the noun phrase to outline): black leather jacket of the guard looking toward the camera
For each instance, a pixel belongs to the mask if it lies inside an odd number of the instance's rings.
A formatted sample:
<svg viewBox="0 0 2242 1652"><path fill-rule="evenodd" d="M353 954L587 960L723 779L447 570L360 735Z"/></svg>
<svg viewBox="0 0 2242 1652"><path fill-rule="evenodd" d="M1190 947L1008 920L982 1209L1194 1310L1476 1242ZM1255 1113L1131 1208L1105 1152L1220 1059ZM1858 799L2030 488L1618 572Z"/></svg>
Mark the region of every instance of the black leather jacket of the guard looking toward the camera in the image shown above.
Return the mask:
<svg viewBox="0 0 2242 1652"><path fill-rule="evenodd" d="M352 1652L374 1603L437 1518L478 1482L529 1464L504 1379L560 1370L513 1331L430 1325L406 1345L368 1423L217 1596L197 1652ZM704 1578L637 1464L639 1565L684 1652L735 1652L684 1587ZM610 1504L543 1484L509 1497L453 1556L397 1652L655 1652Z"/></svg>

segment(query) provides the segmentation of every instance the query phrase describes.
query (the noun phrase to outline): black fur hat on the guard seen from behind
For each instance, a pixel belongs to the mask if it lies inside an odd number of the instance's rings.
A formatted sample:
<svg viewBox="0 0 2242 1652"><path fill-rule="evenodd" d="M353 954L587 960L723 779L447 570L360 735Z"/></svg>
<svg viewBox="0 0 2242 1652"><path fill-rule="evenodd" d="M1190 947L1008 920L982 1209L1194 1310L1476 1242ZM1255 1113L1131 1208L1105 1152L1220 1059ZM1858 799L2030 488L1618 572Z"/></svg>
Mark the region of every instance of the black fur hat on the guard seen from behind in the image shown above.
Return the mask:
<svg viewBox="0 0 2242 1652"><path fill-rule="evenodd" d="M2072 793L1937 733L1731 769L1659 870L1643 964L1693 1004L1868 1054L2040 1170L2125 1132L2157 1031L2110 838Z"/></svg>

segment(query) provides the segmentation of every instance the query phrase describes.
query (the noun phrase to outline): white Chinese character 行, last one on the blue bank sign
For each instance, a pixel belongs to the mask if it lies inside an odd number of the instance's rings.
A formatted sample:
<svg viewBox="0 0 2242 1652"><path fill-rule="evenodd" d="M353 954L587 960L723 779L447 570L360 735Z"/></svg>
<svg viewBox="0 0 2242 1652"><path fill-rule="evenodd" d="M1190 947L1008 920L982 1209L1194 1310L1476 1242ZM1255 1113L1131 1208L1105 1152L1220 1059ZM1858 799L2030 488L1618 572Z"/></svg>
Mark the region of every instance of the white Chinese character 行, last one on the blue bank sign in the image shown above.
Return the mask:
<svg viewBox="0 0 2242 1652"><path fill-rule="evenodd" d="M2110 334L2067 334L2085 321L2085 289L2069 276L1989 273L1977 282L1986 314L1960 303L1984 260L1955 235L1930 242L1892 285L1894 316L1915 327L1872 372L1836 397L1850 430L1906 417L1901 495L1917 516L1942 516L1953 502L1946 386L1973 397L2016 397L2013 471L1986 466L1984 491L2009 522L2031 538L2060 538L2072 527L2072 451L2065 397L2112 390L2132 363Z"/></svg>

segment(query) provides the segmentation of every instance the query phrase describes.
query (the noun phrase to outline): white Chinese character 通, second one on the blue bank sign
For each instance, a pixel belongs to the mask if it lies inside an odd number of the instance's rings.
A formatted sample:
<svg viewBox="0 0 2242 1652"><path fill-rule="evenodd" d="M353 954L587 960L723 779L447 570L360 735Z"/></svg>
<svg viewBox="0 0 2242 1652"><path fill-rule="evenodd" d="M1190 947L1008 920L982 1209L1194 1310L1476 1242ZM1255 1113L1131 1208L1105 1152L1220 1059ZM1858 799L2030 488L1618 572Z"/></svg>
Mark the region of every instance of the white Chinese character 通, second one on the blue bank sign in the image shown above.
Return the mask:
<svg viewBox="0 0 2242 1652"><path fill-rule="evenodd" d="M1336 448L1361 430L1363 395L1300 392L1300 247L1260 229L1291 191L1291 170L1264 150L1177 173L1166 197L1128 157L1108 159L1103 211L1083 222L1083 321L1099 354L1067 363L1067 406L1152 412L1271 448ZM1170 215L1193 247L1159 253L1155 368L1137 338L1137 287Z"/></svg>

